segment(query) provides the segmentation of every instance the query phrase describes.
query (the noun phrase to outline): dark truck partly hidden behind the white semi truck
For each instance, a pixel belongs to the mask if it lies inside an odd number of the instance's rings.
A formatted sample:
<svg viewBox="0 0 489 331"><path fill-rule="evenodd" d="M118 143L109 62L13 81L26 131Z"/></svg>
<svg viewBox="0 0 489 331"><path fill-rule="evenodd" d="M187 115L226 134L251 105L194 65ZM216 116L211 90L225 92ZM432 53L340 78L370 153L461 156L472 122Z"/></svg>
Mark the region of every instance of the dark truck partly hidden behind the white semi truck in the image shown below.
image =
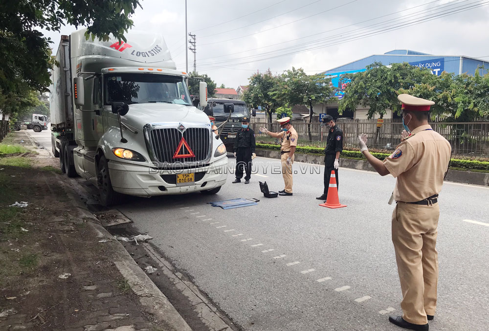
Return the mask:
<svg viewBox="0 0 489 331"><path fill-rule="evenodd" d="M228 151L233 151L236 134L241 129L243 117L249 118L251 115L255 116L256 113L253 112L253 114L251 114L244 101L241 100L210 98L207 100L207 106L203 107L203 111L207 115L216 118L216 125L218 127L229 117L229 114L224 112L224 104L226 103L234 104L234 112L231 113L231 117L224 127L219 129L219 134L224 142L224 145L226 146L226 149Z"/></svg>

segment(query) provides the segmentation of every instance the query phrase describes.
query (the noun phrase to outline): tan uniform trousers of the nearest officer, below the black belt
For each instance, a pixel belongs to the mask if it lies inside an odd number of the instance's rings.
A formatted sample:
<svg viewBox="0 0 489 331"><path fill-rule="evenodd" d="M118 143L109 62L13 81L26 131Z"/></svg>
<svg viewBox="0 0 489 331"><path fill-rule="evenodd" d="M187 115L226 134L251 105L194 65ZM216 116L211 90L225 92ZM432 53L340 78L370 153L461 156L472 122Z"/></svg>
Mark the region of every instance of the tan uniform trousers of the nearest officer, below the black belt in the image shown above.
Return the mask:
<svg viewBox="0 0 489 331"><path fill-rule="evenodd" d="M436 310L438 284L438 203L431 206L398 202L392 213L392 242L402 290L402 318L426 324Z"/></svg>

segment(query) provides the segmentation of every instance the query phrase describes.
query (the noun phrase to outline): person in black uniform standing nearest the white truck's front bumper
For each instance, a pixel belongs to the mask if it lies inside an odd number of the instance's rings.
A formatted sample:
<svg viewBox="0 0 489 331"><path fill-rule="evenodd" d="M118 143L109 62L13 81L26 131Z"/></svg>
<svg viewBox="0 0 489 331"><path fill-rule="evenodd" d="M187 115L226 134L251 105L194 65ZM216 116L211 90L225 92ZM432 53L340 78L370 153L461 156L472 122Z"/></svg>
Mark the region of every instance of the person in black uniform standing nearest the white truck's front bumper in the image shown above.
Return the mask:
<svg viewBox="0 0 489 331"><path fill-rule="evenodd" d="M236 156L236 179L233 183L241 182L243 172L246 172L244 183L249 184L251 178L251 157L255 154L255 132L249 128L249 117L243 117L241 130L234 141L234 156ZM244 169L244 171L243 171Z"/></svg>

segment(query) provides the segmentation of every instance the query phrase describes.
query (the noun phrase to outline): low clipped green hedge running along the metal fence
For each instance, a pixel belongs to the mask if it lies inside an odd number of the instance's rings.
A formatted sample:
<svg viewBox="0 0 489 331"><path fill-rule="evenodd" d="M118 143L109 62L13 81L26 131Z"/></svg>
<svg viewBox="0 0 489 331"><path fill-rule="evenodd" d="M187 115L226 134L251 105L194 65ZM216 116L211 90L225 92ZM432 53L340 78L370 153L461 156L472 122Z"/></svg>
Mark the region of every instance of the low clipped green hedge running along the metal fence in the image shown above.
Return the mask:
<svg viewBox="0 0 489 331"><path fill-rule="evenodd" d="M256 147L265 150L280 151L280 145L275 145L275 144L257 143ZM295 152L302 153L302 154L324 155L324 148L311 147L311 146L297 146ZM379 160L383 160L384 158L390 155L387 153L375 153L375 152L371 154L377 157ZM343 152L341 152L341 155L347 158L365 159L365 157L363 156L362 153L360 153L360 151L343 150ZM452 158L450 161L450 167L462 168L466 170L484 170L489 172L489 162L486 161L460 160L460 159Z"/></svg>

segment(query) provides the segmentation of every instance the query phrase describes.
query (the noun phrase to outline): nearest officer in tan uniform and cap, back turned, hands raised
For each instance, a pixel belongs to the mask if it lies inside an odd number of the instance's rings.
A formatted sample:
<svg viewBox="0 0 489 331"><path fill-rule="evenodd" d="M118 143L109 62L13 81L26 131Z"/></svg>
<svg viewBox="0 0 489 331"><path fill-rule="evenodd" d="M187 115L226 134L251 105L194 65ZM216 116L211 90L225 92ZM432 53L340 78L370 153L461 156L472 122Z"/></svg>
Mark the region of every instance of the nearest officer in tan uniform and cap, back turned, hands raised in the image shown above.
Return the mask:
<svg viewBox="0 0 489 331"><path fill-rule="evenodd" d="M435 315L438 283L438 193L450 160L450 143L428 124L434 102L408 94L398 97L403 132L396 151L380 161L368 152L366 134L358 137L360 151L381 175L397 178L392 213L392 242L402 290L402 316L389 321L411 330L427 331Z"/></svg>

